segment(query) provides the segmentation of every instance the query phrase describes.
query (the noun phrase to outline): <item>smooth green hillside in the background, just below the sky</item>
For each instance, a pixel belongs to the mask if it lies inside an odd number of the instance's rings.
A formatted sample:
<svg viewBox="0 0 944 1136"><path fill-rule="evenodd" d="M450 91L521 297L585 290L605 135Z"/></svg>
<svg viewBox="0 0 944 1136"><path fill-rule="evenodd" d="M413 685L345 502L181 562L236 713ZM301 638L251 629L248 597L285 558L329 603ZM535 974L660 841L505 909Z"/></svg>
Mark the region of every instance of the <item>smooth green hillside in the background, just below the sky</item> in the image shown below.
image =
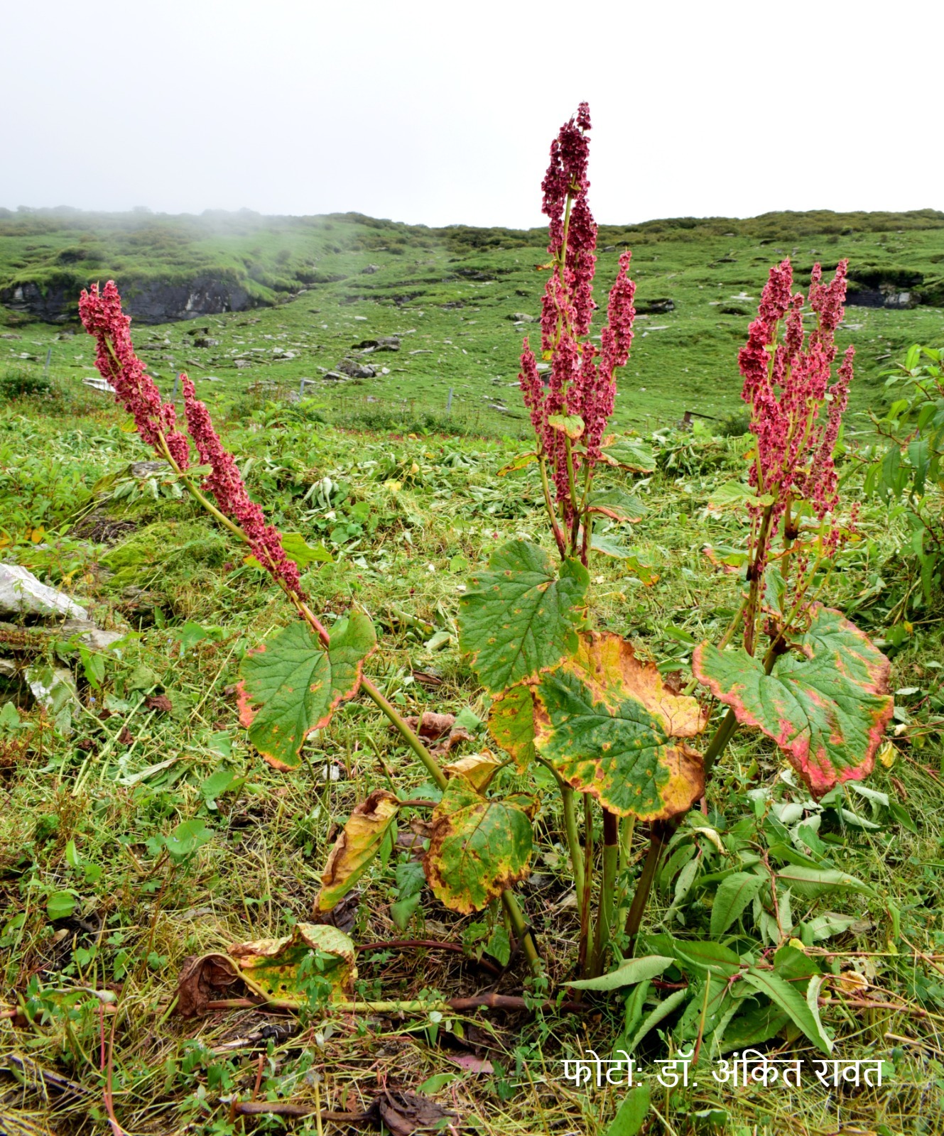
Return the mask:
<svg viewBox="0 0 944 1136"><path fill-rule="evenodd" d="M139 327L139 345L165 384L186 368L211 401L234 402L259 381L298 386L307 377L336 414L399 414L404 401L442 412L452 389L457 419L515 435L524 427L518 354L531 329L516 317L538 312L544 275L535 268L544 241L541 229L433 229L356 214L0 212L0 291L34 282L77 296L89 281L111 276L133 291L157 279L216 275L268 307ZM854 411L879 398L878 376L891 357L944 335L944 309L935 307L944 300L944 214L933 210L603 226L598 301L605 302L626 245L634 251L641 315L620 384L623 426L649 431L685 410L724 418L738 409L737 349L769 265L785 254L800 282L814 260L833 267L849 257L853 295L887 285L928 301L910 310L850 307L839 344L858 349ZM667 299L673 310L653 303ZM22 336L5 343L0 360L28 370L51 346L60 369L93 374L89 343L68 326L25 323L23 314L2 308L0 320L7 334ZM367 357L389 374L323 379L354 344L377 335L402 337L398 353Z"/></svg>

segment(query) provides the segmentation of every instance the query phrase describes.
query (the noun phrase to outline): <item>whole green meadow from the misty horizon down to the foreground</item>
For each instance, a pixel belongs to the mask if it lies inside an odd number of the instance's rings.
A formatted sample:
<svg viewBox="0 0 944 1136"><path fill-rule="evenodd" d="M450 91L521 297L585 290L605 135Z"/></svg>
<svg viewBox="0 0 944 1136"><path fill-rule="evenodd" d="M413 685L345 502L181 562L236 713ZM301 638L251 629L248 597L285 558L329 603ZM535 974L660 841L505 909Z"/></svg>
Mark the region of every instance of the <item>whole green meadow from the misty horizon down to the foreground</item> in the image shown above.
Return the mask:
<svg viewBox="0 0 944 1136"><path fill-rule="evenodd" d="M328 626L351 608L371 618L378 648L367 669L386 698L403 713L462 713L470 737L453 757L493 744L483 728L487 699L458 649L457 615L470 573L494 549L515 537L549 543L534 467L499 476L527 436L517 358L532 325L510 317L538 314L541 234L348 215L217 218L212 234L209 219L139 223L149 235L135 247L131 223L2 217L0 279L39 273L42 258L76 247L98 250L102 281L160 264L190 272L198 256L254 272L270 306L136 324L136 348L165 393L177 369L197 381L269 519L324 543L331 561L303 575L312 609ZM176 243L165 226L181 234ZM743 543L745 524L709 498L745 469L749 437L721 425L741 407L736 354L768 266L784 254L807 270L814 258L832 266L858 257L886 274L907 266L930 287L944 258L944 217L784 214L604 228L601 248L612 248L600 254L602 285L624 243L634 250L638 299L669 298L675 308L636 324L616 421L652 441L657 469L608 474L645 513L612 523L633 558L594 556L592 603L600 628L630 637L663 674L680 671L684 685L693 645L717 641L738 605L742 580L726 558ZM82 275L83 265L91 261L69 270ZM368 265L378 268L364 273ZM343 278L304 284L302 272ZM287 286L276 289L278 281ZM393 788L421 801L435 787L366 699L309 740L298 772L260 761L239 724L235 683L247 650L290 621L282 594L178 485L160 470L132 469L152 454L111 398L83 385L95 371L81 329L9 311L2 318L2 334L18 339L0 339L0 553L86 605L99 626L124 633L90 651L36 620L0 624L3 1136L108 1131L109 1078L118 1122L134 1136L377 1130L376 1121L350 1117L384 1086L453 1113L442 1131L490 1136L944 1131L944 604L916 583L905 511L862 493L867 412L883 402L882 373L913 342L944 342L944 310L850 307L838 336L858 351L844 509L862 508L859 538L824 599L892 659L896 710L867 782L877 795L849 791L822 812L816 844L817 863L862 888L797 891L792 912L790 902L778 912L795 925L782 927L785 936L825 919L817 926L826 932L807 944L824 975L822 1022L836 1056L883 1060L884 1084L834 1089L810 1076L802 1092L732 1092L702 1078L684 1091L655 1089L654 1111L637 1129L615 1120L619 1089L575 1088L560 1066L566 1054L609 1052L624 1036L625 991L592 995L580 1012L358 1014L317 1002L301 1014L175 1012L189 957L287 935L311 919L327 853L367 792ZM399 351L353 352L390 335L400 336ZM217 342L198 346L197 339ZM389 374L325 379L345 357ZM299 401L302 378L314 385ZM683 432L675 423L686 410L709 417ZM49 667L70 674L75 696L47 712L28 682ZM722 708L711 709L720 717ZM735 736L705 815L695 815L700 862L724 869L726 842L745 817L783 817L771 825L786 833L788 815L814 811L785 769L760 735ZM503 788L518 787L511 768L500 777ZM533 871L519 892L557 992L574 975L578 916L558 796L551 784L540 788ZM394 910L424 816L418 805L401 822L395 847L370 867L349 907L362 947L358 995L533 994L523 957L502 946L500 913L460 917L428 891L406 921ZM636 832L620 886L646 844ZM710 893L679 894L667 864L644 932L705 938L710 918ZM730 934L745 950L770 950L746 916ZM654 991L646 1012L666 993ZM651 1068L666 1044L653 1030L643 1063ZM790 1029L769 1049L819 1055ZM266 1102L287 1109L237 1109Z"/></svg>

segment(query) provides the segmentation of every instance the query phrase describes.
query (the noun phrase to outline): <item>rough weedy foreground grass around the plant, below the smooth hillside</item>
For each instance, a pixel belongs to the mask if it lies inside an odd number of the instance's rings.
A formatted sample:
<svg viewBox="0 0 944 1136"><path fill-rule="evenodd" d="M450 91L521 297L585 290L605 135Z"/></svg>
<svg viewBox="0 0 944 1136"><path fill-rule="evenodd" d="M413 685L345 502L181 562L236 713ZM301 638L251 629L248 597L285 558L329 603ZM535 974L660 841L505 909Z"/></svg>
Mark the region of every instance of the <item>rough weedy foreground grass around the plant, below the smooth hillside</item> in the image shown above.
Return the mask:
<svg viewBox="0 0 944 1136"><path fill-rule="evenodd" d="M502 541L543 532L532 473L496 477L517 441L406 435L379 429L379 421L337 428L317 418L304 403L269 399L226 429L273 519L334 552L333 563L304 579L316 610L331 621L357 604L373 617L379 649L369 670L404 712L469 709L483 718L486 703L458 653L454 620L468 573ZM5 1067L26 1086L0 1081L5 1130L102 1130L103 1020L115 1109L131 1133L235 1133L243 1121L229 1119L234 1095L245 1101L258 1085L261 1100L314 1104L316 1083L329 1111L358 1111L379 1084L424 1085L484 1133L605 1133L620 1091L575 1089L559 1061L585 1047L607 1052L620 1031L618 996L598 999L584 1016L457 1013L440 1021L423 1013L398 1020L312 1011L301 1022L249 1010L195 1020L173 1013L187 955L284 935L310 919L334 833L368 790L389 787L390 777L410 796L428 790L366 701L311 740L299 774L261 765L237 725L232 690L242 653L285 623L285 605L189 501L159 482L122 476L149 457L125 426L70 368L58 367L50 393L14 399L0 418L6 558L89 604L103 626L128 629L98 668L75 650L59 649L57 658L35 627L0 632L15 667L2 696L22 708L17 727L0 720L2 1000L19 1009L15 1020L0 1019L0 1049ZM602 626L687 677L691 642L717 640L735 605L736 577L712 569L702 546L720 552L741 538L738 523L710 513L707 502L720 482L740 476L745 440L700 427L663 434L658 450L659 471L635 486L648 513L624 534L636 566L598 558L594 602ZM846 468L852 499L854 456ZM131 492L119 492L123 485ZM861 970L884 1008L844 1009L851 995L839 988L824 1020L836 1034L837 1055L880 1055L894 1076L882 1089L858 1093L828 1092L811 1074L801 1093L757 1086L732 1094L710 1080L683 1093L660 1089L663 1120L653 1113L646 1133L941 1130L939 610L909 601L909 630L893 648L889 616L913 576L905 523L867 504L862 534L829 601L854 610L893 655L894 685L903 692L900 736L893 763L878 766L869 786L901 804L910 828L879 809L875 829L841 825L826 834L834 862L866 880L874 897L833 894L805 901L804 914L832 909L861 917L858 930L821 944L818 957L827 970ZM443 634L433 638L431 626ZM24 668L43 661L65 663L76 677L80 704L67 735L25 691ZM167 703L149 707L154 694ZM484 744L478 735L465 752ZM769 745L740 735L712 785L710 824L727 830L750 811L752 790L766 786L788 800L778 770ZM220 780L222 772L232 776ZM557 987L571 974L577 920L554 796L545 794L521 901ZM174 860L162 838L183 821L198 821L208 840ZM630 872L643 853L640 834ZM401 847L364 880L357 942L404 937L389 904L398 896L396 864L409 859ZM650 930L666 917L673 886L669 876L658 891ZM62 902L72 909L65 914ZM683 913L684 925L670 919L674 934L705 934L704 899L687 902ZM361 996L458 996L492 987L494 976L473 961L491 919L457 918L427 895L406 937L465 943L468 958L383 945L361 952ZM528 982L512 958L499 989ZM108 1003L116 1012L100 1011L89 991L116 995ZM650 1070L660 1052L655 1035L653 1042L642 1054ZM487 1059L491 1071L440 1076L457 1071L450 1055L469 1052ZM72 1095L56 1091L57 1077L77 1086ZM285 1122L316 1131L314 1119ZM274 1130L283 1121L250 1124ZM326 1121L324 1130L344 1129Z"/></svg>

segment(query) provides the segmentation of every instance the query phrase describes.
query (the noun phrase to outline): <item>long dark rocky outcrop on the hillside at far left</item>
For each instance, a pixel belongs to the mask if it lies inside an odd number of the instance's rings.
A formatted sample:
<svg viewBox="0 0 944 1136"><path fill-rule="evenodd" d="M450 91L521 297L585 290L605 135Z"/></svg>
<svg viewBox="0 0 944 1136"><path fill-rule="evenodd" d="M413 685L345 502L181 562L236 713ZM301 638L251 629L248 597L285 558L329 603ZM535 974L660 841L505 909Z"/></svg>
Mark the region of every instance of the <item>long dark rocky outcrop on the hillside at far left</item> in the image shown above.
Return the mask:
<svg viewBox="0 0 944 1136"><path fill-rule="evenodd" d="M168 324L262 306L262 301L237 281L218 276L194 276L182 283L120 278L116 283L125 311L139 324ZM0 290L0 303L47 323L60 324L76 318L83 286L78 281L70 281L40 287L34 281L24 281Z"/></svg>

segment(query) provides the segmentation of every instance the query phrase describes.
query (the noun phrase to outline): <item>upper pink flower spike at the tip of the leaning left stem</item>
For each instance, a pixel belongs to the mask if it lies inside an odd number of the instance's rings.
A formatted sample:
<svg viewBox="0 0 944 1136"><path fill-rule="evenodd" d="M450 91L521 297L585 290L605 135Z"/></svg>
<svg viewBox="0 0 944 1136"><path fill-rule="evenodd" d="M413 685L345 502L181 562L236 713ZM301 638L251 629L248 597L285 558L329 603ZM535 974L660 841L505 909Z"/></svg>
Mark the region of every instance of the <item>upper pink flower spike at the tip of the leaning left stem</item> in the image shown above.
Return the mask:
<svg viewBox="0 0 944 1136"><path fill-rule="evenodd" d="M122 298L114 281L99 292L93 284L82 290L78 315L90 335L95 337L95 366L103 379L115 387L117 401L134 418L142 440L160 453L159 435L181 469L190 465L190 446L177 429L177 416L170 402L164 402L154 381L134 353L131 319L122 311ZM162 453L160 453L164 457Z"/></svg>

